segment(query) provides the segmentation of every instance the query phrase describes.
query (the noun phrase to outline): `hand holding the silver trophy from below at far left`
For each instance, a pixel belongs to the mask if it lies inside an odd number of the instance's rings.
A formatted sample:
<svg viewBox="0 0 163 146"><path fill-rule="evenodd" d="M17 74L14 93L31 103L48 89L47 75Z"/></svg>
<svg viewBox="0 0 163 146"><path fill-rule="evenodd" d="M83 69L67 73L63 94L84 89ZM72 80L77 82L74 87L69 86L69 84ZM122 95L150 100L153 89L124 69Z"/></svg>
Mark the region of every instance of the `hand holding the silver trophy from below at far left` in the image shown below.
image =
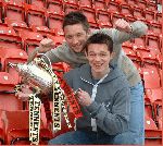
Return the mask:
<svg viewBox="0 0 163 146"><path fill-rule="evenodd" d="M28 100L29 95L33 94L33 92L29 89L28 85L23 85L22 90L17 92L15 96L18 97L18 99L22 99L23 101Z"/></svg>

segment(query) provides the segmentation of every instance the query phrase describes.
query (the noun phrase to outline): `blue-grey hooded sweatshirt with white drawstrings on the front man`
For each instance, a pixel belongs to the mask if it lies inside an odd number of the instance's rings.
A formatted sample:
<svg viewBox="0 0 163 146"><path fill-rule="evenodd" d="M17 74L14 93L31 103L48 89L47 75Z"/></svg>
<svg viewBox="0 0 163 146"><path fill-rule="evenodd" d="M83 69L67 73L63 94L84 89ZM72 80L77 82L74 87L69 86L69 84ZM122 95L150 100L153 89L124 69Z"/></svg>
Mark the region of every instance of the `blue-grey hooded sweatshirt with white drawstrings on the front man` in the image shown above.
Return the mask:
<svg viewBox="0 0 163 146"><path fill-rule="evenodd" d="M92 100L90 106L82 107L84 117L76 121L76 127L90 129L91 119L96 119L98 129L109 135L127 131L130 90L125 75L117 66L112 66L108 76L97 84L90 73L89 64L85 64L64 75L74 90L82 88L91 96Z"/></svg>

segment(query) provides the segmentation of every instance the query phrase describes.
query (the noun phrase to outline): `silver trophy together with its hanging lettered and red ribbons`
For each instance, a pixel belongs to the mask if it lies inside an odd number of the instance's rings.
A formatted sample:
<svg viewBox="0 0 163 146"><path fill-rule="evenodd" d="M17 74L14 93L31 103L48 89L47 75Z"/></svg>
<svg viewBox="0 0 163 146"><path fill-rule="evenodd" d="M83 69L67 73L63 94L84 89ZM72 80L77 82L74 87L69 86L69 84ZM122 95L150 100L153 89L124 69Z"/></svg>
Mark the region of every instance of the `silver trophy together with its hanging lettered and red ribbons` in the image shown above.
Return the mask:
<svg viewBox="0 0 163 146"><path fill-rule="evenodd" d="M49 58L47 59L49 60ZM61 130L61 112L63 112L67 126L72 127L65 102L72 108L75 118L83 115L74 92L65 81L62 80L62 85L60 84L58 76L52 71L51 62L47 64L42 58L35 58L34 61L28 64L10 63L10 65L16 68L22 76L22 83L29 85L34 90L33 94L29 95L29 141L32 144L39 144L41 107L39 97L41 95L48 95L52 90L53 111L51 121L53 132ZM15 92L21 90L21 84L16 85Z"/></svg>

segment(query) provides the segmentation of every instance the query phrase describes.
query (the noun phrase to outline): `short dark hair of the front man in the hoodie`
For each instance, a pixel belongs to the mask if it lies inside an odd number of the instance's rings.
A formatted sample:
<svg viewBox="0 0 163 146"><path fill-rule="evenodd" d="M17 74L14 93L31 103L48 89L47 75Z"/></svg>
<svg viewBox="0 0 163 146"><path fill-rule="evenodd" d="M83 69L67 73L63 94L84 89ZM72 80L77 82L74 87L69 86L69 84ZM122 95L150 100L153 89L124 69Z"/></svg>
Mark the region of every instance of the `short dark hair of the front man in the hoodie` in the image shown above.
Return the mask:
<svg viewBox="0 0 163 146"><path fill-rule="evenodd" d="M84 50L86 52L88 52L88 46L90 44L105 44L108 46L108 50L111 53L113 52L113 40L106 34L96 33L96 34L91 35L84 45Z"/></svg>

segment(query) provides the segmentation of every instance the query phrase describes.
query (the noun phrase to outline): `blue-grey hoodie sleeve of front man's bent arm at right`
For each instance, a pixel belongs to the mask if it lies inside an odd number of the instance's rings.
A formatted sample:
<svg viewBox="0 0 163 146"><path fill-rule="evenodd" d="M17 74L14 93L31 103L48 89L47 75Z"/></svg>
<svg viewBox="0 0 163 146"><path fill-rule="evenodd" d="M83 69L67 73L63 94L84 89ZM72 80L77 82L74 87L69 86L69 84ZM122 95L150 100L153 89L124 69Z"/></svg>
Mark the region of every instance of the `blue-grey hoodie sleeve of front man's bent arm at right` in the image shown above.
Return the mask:
<svg viewBox="0 0 163 146"><path fill-rule="evenodd" d="M93 101L88 111L97 120L97 125L109 135L122 133L128 129L130 113L130 90L124 87L115 95L114 104L109 111L103 105Z"/></svg>

